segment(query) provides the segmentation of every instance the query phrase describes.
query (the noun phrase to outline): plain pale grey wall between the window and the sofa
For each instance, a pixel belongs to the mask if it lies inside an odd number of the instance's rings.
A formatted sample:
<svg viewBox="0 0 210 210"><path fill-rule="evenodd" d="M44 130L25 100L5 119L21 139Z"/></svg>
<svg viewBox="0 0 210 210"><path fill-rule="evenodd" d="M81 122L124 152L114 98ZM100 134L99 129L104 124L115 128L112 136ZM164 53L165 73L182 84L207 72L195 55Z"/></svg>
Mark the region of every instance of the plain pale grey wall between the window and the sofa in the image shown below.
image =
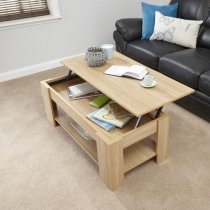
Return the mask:
<svg viewBox="0 0 210 210"><path fill-rule="evenodd" d="M119 18L140 17L140 0L60 0L61 21L0 31L0 73L114 43ZM169 0L145 2L165 4Z"/></svg>

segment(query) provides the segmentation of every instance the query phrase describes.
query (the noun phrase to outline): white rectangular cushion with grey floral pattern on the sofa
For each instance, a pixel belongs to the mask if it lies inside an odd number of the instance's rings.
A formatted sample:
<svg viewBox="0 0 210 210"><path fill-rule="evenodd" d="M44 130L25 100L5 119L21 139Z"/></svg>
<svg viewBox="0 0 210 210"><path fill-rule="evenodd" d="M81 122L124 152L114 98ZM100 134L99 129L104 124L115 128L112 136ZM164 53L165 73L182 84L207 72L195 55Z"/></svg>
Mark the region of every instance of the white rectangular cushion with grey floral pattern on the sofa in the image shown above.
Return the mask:
<svg viewBox="0 0 210 210"><path fill-rule="evenodd" d="M155 12L155 27L150 40L163 40L184 47L196 48L202 23L203 21L173 18Z"/></svg>

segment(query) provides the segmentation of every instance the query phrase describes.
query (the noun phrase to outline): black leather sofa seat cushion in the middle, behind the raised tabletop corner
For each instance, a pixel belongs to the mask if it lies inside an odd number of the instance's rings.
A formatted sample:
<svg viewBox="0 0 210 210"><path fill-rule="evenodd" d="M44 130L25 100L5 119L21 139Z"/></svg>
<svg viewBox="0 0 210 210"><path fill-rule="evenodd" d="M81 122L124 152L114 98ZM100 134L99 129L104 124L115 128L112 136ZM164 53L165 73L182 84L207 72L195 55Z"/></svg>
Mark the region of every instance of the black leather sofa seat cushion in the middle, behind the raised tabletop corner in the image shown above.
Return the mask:
<svg viewBox="0 0 210 210"><path fill-rule="evenodd" d="M186 49L160 58L161 73L198 89L200 75L210 69L210 50L204 48Z"/></svg>

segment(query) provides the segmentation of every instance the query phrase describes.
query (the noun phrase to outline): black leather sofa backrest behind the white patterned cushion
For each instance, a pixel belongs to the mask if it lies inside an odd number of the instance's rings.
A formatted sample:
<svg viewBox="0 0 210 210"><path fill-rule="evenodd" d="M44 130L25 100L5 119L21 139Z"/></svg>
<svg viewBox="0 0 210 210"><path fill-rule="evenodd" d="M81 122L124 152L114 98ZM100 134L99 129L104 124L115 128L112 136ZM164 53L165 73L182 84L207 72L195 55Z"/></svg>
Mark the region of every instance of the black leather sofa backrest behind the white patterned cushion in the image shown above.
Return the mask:
<svg viewBox="0 0 210 210"><path fill-rule="evenodd" d="M178 18L204 21L197 45L210 49L210 0L171 0L173 3L179 3Z"/></svg>

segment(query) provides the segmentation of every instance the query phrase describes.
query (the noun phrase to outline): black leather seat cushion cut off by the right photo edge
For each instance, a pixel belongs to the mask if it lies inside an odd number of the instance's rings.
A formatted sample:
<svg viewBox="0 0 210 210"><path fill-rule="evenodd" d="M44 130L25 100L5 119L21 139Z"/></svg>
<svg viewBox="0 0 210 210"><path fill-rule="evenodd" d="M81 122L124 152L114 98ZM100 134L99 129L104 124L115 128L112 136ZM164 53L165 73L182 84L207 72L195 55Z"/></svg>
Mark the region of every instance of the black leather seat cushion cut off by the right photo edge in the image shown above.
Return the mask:
<svg viewBox="0 0 210 210"><path fill-rule="evenodd" d="M210 96L210 70L201 74L198 83L198 89L206 95Z"/></svg>

